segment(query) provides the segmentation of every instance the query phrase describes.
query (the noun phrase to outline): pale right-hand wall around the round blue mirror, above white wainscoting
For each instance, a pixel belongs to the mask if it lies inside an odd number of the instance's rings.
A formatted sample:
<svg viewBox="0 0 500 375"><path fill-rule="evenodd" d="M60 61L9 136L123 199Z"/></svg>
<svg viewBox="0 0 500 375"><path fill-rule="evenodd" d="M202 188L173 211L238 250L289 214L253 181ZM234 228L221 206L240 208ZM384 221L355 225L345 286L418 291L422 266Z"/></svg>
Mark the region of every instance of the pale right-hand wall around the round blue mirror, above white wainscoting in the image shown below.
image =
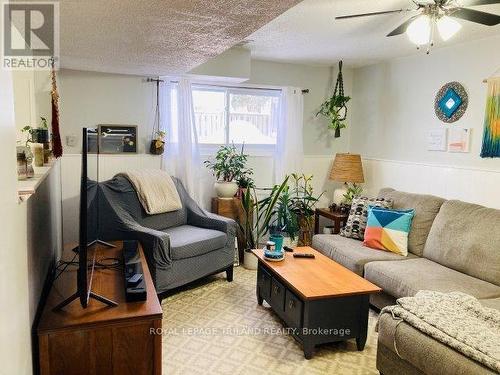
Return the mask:
<svg viewBox="0 0 500 375"><path fill-rule="evenodd" d="M479 157L487 85L500 68L500 36L394 59L354 71L351 150L366 157L500 170L498 159ZM450 81L462 83L469 106L446 125L434 113L434 98ZM472 128L470 153L427 151L431 129Z"/></svg>

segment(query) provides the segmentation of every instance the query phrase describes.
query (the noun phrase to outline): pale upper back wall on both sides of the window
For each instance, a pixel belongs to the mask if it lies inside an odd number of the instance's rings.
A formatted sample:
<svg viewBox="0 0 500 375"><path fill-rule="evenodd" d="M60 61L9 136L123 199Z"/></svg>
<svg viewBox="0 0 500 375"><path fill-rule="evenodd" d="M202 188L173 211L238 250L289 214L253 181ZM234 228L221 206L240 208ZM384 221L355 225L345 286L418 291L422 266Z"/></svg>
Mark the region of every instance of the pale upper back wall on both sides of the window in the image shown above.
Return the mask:
<svg viewBox="0 0 500 375"><path fill-rule="evenodd" d="M237 57L235 63L241 60L241 56ZM343 131L342 137L335 139L332 131L326 129L326 120L315 115L331 94L336 76L337 71L329 67L252 60L250 79L246 83L308 88L310 92L304 96L304 151L308 155L333 155L348 149L350 131ZM349 94L352 70L345 69L344 81ZM61 135L66 153L79 152L79 146L66 146L66 136L76 136L79 145L82 127L106 123L138 125L139 153L146 151L154 116L155 88L145 82L144 77L61 70L59 88Z"/></svg>

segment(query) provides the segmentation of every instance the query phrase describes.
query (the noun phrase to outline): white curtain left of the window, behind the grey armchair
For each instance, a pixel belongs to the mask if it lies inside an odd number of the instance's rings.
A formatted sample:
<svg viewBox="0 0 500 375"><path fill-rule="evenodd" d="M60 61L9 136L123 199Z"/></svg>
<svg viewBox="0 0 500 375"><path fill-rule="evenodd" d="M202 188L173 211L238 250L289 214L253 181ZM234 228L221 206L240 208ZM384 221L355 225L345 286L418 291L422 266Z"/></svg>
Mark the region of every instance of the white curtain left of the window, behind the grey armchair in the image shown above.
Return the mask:
<svg viewBox="0 0 500 375"><path fill-rule="evenodd" d="M191 82L163 82L160 86L160 128L166 134L162 168L179 178L189 195L203 201L200 186L201 157L193 107Z"/></svg>

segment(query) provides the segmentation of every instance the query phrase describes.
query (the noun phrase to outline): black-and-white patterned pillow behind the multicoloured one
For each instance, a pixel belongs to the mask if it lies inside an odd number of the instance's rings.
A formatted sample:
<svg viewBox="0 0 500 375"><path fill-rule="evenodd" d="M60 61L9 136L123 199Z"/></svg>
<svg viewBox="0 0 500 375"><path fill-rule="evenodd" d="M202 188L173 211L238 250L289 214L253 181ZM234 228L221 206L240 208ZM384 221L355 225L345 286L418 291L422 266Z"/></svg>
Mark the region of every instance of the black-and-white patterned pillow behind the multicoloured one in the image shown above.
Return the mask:
<svg viewBox="0 0 500 375"><path fill-rule="evenodd" d="M386 198L354 198L352 200L351 211L349 211L347 223L340 231L341 236L361 241L365 238L369 206L392 208L392 200Z"/></svg>

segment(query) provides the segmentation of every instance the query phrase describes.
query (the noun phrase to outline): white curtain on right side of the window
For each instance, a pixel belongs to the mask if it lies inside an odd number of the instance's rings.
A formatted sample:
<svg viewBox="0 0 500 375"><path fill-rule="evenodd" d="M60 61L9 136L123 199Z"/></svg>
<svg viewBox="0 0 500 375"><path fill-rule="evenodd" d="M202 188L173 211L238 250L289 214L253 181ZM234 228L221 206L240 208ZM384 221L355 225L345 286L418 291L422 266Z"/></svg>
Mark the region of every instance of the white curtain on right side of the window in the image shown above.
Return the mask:
<svg viewBox="0 0 500 375"><path fill-rule="evenodd" d="M280 184L287 174L302 172L304 160L303 124L304 98L302 90L296 87L283 88L275 154L276 184Z"/></svg>

